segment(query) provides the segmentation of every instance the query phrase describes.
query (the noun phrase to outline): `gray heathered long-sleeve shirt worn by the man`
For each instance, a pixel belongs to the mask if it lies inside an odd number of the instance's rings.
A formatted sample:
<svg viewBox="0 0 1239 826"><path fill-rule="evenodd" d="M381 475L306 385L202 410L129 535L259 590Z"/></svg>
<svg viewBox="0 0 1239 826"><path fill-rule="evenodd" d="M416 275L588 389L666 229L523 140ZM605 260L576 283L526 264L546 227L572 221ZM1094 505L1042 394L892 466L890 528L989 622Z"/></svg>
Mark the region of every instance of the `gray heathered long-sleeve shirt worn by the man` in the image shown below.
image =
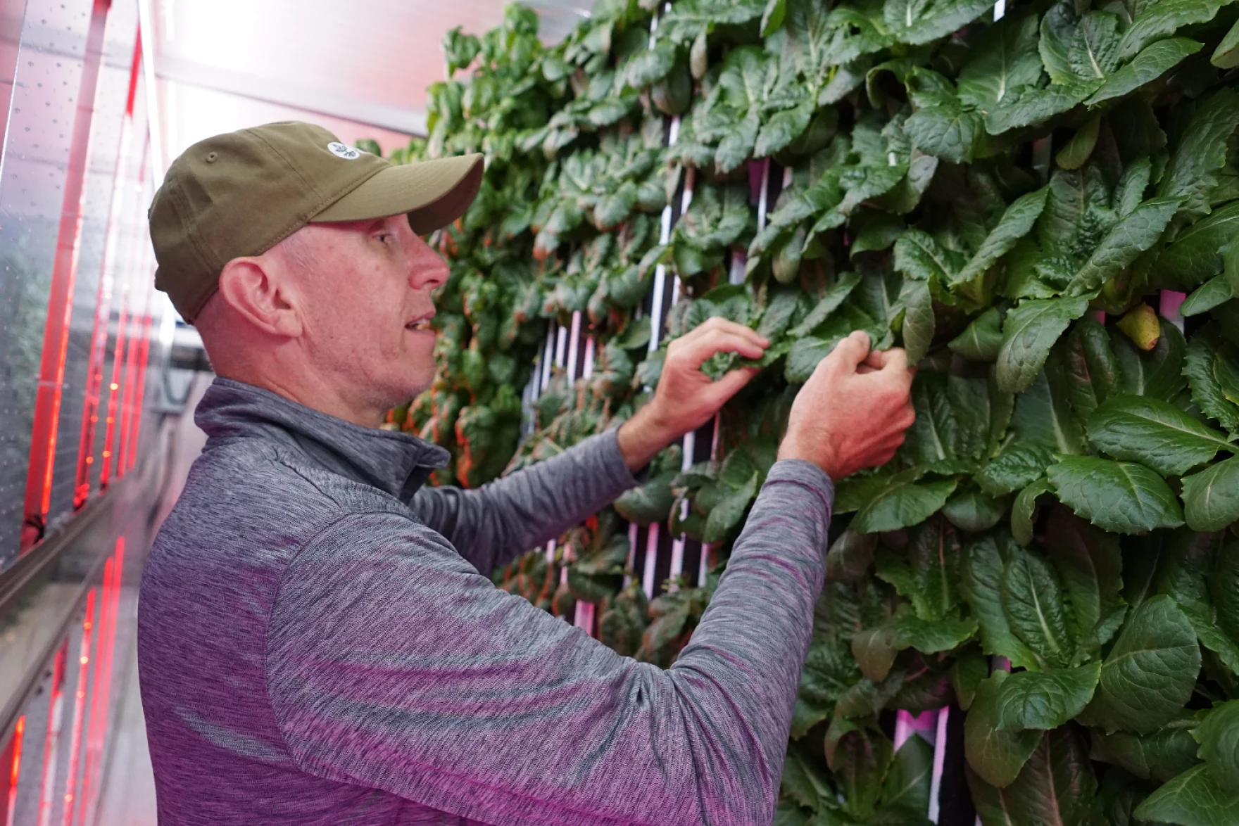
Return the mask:
<svg viewBox="0 0 1239 826"><path fill-rule="evenodd" d="M615 432L477 490L436 446L217 379L155 540L139 670L159 819L768 824L833 487L773 466L670 669L496 588L636 480Z"/></svg>

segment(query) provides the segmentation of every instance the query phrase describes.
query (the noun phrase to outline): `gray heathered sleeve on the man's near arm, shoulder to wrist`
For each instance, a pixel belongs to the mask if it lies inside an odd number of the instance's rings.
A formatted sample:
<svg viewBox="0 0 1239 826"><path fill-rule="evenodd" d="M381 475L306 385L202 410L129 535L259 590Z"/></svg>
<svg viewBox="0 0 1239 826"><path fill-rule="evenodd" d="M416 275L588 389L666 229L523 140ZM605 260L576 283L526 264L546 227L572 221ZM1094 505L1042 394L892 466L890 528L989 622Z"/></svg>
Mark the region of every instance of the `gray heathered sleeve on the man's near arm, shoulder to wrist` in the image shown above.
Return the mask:
<svg viewBox="0 0 1239 826"><path fill-rule="evenodd" d="M817 467L774 464L667 670L494 588L424 525L344 516L286 570L270 617L289 750L489 824L769 824L831 500Z"/></svg>

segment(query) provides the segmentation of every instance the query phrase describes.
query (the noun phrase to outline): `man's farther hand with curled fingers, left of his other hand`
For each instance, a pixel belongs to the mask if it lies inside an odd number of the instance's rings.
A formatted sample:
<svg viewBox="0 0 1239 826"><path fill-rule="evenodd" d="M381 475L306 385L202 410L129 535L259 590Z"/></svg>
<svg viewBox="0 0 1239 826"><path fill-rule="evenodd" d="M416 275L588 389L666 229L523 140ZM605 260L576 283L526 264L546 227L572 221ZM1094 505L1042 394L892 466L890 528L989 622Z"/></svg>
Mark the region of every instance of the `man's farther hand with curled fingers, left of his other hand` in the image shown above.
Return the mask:
<svg viewBox="0 0 1239 826"><path fill-rule="evenodd" d="M761 358L769 342L756 332L725 318L710 318L667 347L663 374L654 398L620 426L616 435L624 464L646 467L658 451L719 412L727 399L748 384L756 368L729 370L717 381L701 372L715 353Z"/></svg>

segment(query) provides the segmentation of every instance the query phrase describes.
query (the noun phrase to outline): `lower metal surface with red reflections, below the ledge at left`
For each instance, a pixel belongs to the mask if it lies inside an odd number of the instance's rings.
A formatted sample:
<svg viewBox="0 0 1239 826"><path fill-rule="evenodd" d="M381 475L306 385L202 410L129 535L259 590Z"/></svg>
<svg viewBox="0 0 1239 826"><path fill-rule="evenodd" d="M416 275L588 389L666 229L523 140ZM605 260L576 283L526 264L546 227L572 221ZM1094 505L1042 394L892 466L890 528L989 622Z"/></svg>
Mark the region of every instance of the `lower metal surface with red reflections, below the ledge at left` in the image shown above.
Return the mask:
<svg viewBox="0 0 1239 826"><path fill-rule="evenodd" d="M16 711L7 726L0 723L0 744L19 736L21 744L17 784L0 800L0 820L7 806L15 825L95 822L112 710L121 698L114 685L134 644L161 458L150 452L115 485L21 604L0 619L0 710Z"/></svg>

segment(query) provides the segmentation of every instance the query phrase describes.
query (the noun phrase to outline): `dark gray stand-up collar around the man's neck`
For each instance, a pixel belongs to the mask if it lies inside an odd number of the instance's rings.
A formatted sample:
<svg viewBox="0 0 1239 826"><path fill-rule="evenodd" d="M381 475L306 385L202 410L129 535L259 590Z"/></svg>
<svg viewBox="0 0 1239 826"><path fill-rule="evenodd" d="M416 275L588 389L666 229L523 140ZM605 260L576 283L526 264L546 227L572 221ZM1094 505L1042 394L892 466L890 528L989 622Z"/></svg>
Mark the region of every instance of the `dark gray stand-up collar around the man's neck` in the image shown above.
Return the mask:
<svg viewBox="0 0 1239 826"><path fill-rule="evenodd" d="M212 381L193 420L211 438L256 437L295 447L323 469L401 502L451 457L416 436L362 427L232 379Z"/></svg>

